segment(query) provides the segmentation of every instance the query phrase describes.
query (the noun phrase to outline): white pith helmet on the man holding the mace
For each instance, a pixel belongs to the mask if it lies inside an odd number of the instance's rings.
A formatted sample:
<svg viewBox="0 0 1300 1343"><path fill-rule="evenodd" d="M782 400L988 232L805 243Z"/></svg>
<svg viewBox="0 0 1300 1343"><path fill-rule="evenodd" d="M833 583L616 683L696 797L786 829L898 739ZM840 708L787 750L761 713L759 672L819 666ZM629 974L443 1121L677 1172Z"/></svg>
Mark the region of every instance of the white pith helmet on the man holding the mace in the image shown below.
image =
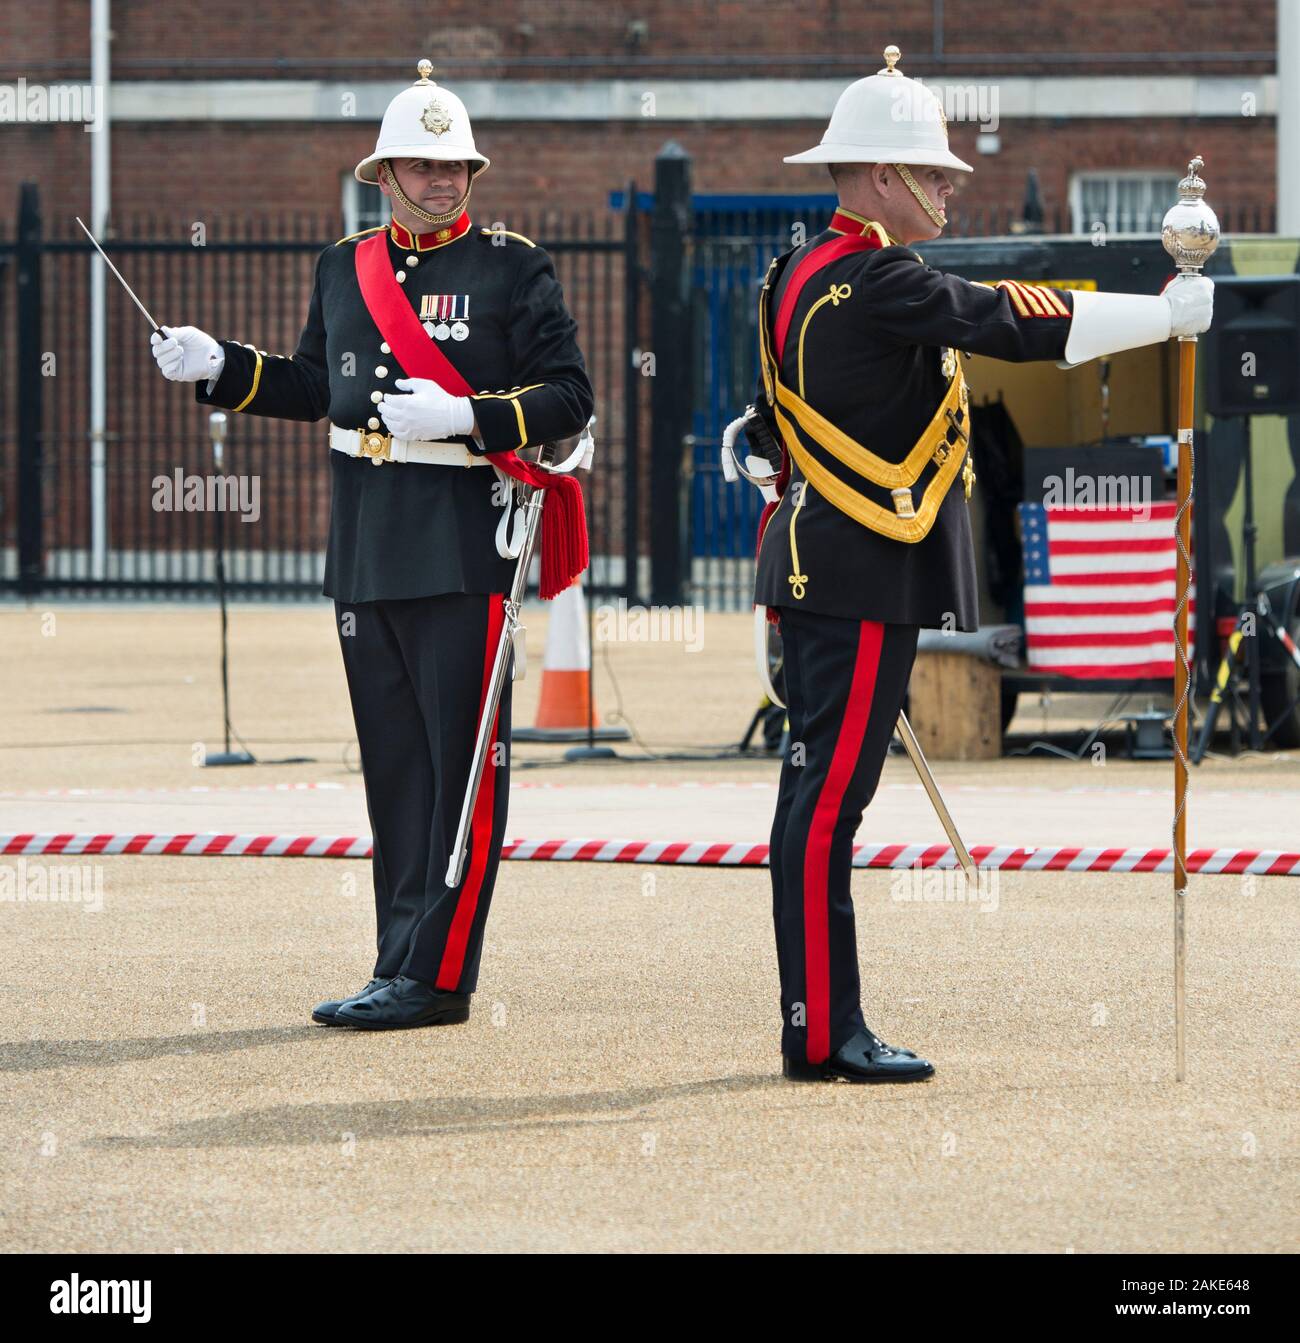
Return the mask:
<svg viewBox="0 0 1300 1343"><path fill-rule="evenodd" d="M858 79L835 101L822 142L787 164L927 164L975 169L948 149L943 102L894 70L897 47L885 47L885 68Z"/></svg>

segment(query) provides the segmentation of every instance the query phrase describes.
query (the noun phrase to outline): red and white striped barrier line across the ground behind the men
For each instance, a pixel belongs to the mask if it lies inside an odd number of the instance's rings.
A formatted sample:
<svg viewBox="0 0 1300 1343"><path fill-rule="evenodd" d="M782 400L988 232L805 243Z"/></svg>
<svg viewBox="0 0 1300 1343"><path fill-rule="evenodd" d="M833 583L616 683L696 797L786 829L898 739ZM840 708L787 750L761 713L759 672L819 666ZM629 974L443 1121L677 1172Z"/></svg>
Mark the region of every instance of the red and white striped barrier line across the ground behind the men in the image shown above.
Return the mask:
<svg viewBox="0 0 1300 1343"><path fill-rule="evenodd" d="M218 858L369 858L369 835L234 834L0 834L0 855L181 854ZM535 862L650 862L701 868L765 868L765 843L667 839L512 839L502 858ZM1062 845L972 845L971 857L994 872L1172 872L1168 849L1084 849ZM945 843L854 845L854 868L955 868ZM1280 849L1195 849L1187 870L1300 877L1300 853Z"/></svg>

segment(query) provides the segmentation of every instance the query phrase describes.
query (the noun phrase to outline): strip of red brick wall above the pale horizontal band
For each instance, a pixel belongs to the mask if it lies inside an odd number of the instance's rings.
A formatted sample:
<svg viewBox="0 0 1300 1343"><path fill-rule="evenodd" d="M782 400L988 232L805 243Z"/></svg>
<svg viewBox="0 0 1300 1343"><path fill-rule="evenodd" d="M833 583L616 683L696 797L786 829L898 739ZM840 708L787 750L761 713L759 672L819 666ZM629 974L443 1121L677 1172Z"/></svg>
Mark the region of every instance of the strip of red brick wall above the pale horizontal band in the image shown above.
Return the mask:
<svg viewBox="0 0 1300 1343"><path fill-rule="evenodd" d="M52 0L0 13L0 77L51 78L85 68L89 4ZM870 73L888 42L915 75L936 71L1090 73L1086 54L1272 51L1273 0L947 0L941 31L928 4L861 0L277 0L214 21L203 0L113 7L117 78L265 74L369 79L430 55L447 82L459 71L539 75L587 70L603 78L674 71L708 77L763 68L783 74ZM638 40L637 24L645 36ZM971 62L971 56L988 60ZM1025 59L1038 56L1039 59ZM1065 59L1062 59L1065 58ZM1127 66L1116 66L1127 68ZM1139 68L1143 68L1139 66ZM1155 68L1152 66L1151 68ZM1179 62L1191 70L1270 70L1272 60Z"/></svg>

